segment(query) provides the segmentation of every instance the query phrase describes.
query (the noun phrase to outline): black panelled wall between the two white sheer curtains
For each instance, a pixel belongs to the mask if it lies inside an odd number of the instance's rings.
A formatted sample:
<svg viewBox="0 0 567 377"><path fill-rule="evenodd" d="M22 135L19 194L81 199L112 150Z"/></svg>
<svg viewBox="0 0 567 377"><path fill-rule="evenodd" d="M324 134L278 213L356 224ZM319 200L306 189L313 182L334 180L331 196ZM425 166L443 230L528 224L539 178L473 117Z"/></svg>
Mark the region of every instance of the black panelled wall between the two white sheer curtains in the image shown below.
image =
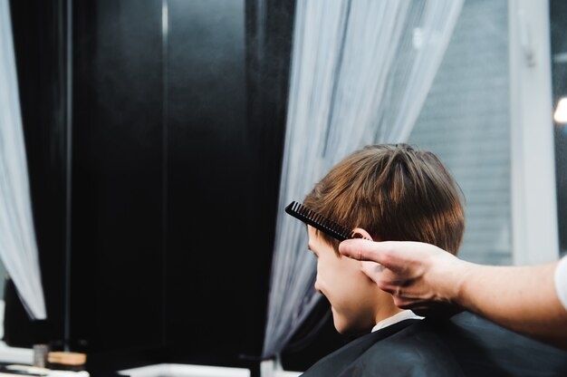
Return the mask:
<svg viewBox="0 0 567 377"><path fill-rule="evenodd" d="M187 362L257 374L294 2L10 5L49 318L26 323L7 300L6 343L67 344L90 372ZM293 338L286 368L344 343L328 309Z"/></svg>

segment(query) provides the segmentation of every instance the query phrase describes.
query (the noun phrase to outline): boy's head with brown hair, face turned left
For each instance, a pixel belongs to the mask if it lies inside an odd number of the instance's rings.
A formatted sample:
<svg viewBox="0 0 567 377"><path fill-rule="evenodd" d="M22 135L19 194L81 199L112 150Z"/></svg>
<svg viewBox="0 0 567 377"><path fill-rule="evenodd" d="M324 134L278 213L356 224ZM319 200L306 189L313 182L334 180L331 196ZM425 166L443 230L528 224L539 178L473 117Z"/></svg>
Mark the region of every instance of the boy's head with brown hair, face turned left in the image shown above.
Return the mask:
<svg viewBox="0 0 567 377"><path fill-rule="evenodd" d="M465 228L460 190L447 169L433 153L406 144L352 153L303 204L343 227L364 229L375 241L427 242L452 254ZM340 333L365 331L395 314L388 313L395 310L391 296L362 274L360 262L341 258L336 239L313 227L308 233L318 257L315 286L331 302Z"/></svg>

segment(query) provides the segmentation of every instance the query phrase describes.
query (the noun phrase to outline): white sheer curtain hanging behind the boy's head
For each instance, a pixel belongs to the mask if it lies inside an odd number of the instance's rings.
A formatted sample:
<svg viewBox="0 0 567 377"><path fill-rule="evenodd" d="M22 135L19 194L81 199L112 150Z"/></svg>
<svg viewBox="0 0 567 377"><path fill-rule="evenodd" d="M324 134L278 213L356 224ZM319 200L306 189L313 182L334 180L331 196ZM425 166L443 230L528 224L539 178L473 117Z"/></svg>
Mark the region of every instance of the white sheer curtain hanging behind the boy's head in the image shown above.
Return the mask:
<svg viewBox="0 0 567 377"><path fill-rule="evenodd" d="M408 139L462 5L297 1L264 357L282 351L320 298L305 228L283 208L352 151Z"/></svg>

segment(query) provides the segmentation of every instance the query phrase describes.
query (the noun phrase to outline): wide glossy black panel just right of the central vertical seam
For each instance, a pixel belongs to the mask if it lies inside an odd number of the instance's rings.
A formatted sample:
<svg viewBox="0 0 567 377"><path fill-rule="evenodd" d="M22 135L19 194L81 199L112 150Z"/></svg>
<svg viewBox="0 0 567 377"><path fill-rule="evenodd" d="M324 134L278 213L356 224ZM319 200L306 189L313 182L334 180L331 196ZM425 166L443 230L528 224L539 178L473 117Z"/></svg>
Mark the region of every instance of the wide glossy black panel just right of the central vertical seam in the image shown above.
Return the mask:
<svg viewBox="0 0 567 377"><path fill-rule="evenodd" d="M234 364L264 284L250 218L245 3L169 1L169 16L168 340L194 362Z"/></svg>

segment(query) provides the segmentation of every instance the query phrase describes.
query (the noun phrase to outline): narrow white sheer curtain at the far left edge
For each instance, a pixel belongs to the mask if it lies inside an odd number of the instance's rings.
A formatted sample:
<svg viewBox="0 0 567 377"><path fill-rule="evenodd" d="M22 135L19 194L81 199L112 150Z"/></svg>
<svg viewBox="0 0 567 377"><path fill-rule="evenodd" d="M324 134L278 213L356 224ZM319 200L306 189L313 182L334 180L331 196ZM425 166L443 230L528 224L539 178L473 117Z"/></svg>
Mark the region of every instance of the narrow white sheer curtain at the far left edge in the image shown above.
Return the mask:
<svg viewBox="0 0 567 377"><path fill-rule="evenodd" d="M8 0L0 0L0 258L33 319L45 319Z"/></svg>

